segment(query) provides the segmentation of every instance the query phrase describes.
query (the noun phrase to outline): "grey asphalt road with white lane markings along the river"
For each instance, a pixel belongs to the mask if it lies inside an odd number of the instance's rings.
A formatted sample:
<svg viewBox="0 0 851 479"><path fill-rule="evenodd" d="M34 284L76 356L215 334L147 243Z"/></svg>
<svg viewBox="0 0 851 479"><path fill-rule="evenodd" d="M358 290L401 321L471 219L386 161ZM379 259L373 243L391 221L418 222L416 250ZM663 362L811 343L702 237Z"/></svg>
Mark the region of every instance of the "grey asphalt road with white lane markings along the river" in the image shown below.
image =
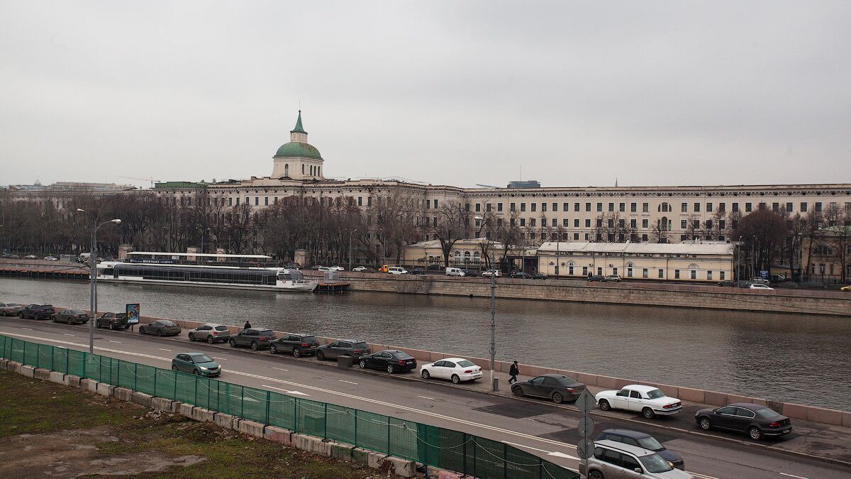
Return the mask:
<svg viewBox="0 0 851 479"><path fill-rule="evenodd" d="M0 334L70 349L88 349L88 326L49 321L0 319ZM574 444L579 413L544 401L517 399L466 390L442 381L425 382L415 373L390 377L358 368L340 369L315 359L231 349L226 344L189 343L183 337L156 338L133 332L97 330L95 352L151 366L170 366L178 352L203 351L220 361L221 379L235 383L356 407L373 413L462 430L504 441L551 460L578 467ZM665 447L683 454L687 470L704 479L848 477L851 468L754 446L741 436L701 434L691 412L652 422L628 413L595 413L595 430L620 427L645 430ZM639 424L640 423L640 424ZM794 435L795 433L793 433ZM790 435L792 436L792 435ZM788 437L788 436L787 436ZM770 441L767 444L771 445ZM839 447L851 447L840 444ZM818 448L814 449L818 452Z"/></svg>

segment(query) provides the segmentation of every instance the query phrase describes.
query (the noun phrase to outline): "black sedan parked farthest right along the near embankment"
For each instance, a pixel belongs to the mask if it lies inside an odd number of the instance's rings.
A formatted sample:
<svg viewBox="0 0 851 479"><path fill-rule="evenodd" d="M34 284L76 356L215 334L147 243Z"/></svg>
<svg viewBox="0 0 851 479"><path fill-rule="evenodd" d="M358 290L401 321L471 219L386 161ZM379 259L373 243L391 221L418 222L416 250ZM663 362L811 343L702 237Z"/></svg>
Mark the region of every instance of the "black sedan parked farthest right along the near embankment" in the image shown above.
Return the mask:
<svg viewBox="0 0 851 479"><path fill-rule="evenodd" d="M715 409L701 409L694 413L694 421L702 430L723 429L744 432L752 440L763 436L784 436L792 431L791 419L776 413L770 407L736 402Z"/></svg>

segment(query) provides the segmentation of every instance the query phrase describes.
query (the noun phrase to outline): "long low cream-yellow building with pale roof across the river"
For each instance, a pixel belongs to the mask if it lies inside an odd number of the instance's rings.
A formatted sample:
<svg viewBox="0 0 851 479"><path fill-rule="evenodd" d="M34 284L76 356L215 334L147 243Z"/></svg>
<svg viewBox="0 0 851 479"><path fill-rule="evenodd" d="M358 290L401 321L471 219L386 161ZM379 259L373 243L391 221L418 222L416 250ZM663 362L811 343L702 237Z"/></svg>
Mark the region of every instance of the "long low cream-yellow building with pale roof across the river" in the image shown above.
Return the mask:
<svg viewBox="0 0 851 479"><path fill-rule="evenodd" d="M548 242L538 247L538 271L559 277L620 274L637 280L717 282L733 279L734 248L717 242Z"/></svg>

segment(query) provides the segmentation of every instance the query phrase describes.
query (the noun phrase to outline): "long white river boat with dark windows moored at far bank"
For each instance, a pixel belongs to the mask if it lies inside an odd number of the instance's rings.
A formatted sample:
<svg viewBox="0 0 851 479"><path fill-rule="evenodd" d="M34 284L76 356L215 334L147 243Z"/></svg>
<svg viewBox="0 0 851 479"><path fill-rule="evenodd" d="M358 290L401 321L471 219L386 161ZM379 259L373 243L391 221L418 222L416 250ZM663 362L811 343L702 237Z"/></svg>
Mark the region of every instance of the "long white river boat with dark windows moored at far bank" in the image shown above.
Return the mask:
<svg viewBox="0 0 851 479"><path fill-rule="evenodd" d="M264 266L265 255L134 251L123 261L97 264L97 280L129 284L193 286L262 291L304 291L319 282L298 269Z"/></svg>

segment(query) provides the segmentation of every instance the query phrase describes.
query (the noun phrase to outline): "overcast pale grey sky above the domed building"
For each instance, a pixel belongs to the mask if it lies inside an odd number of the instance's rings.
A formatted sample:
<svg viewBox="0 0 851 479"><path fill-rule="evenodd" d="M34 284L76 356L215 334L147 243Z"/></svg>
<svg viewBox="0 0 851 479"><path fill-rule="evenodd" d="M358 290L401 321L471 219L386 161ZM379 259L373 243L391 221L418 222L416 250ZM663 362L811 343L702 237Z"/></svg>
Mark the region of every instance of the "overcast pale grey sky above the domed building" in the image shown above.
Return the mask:
<svg viewBox="0 0 851 479"><path fill-rule="evenodd" d="M848 1L0 0L0 185L269 176L299 109L334 178L851 182L849 25Z"/></svg>

